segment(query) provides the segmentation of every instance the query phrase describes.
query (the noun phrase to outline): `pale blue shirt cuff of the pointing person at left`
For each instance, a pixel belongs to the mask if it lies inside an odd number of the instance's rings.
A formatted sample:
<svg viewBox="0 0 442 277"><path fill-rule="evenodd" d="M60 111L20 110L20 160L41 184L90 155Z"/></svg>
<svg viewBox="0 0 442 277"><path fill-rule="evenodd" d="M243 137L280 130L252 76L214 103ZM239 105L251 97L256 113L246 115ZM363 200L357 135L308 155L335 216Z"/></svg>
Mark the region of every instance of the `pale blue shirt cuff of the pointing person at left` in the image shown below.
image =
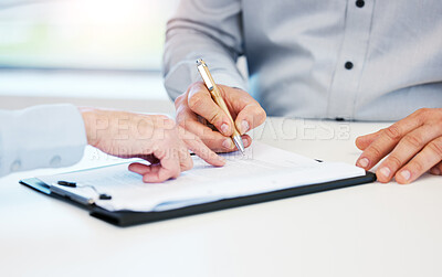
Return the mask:
<svg viewBox="0 0 442 277"><path fill-rule="evenodd" d="M0 177L74 164L86 142L82 115L73 105L0 110Z"/></svg>

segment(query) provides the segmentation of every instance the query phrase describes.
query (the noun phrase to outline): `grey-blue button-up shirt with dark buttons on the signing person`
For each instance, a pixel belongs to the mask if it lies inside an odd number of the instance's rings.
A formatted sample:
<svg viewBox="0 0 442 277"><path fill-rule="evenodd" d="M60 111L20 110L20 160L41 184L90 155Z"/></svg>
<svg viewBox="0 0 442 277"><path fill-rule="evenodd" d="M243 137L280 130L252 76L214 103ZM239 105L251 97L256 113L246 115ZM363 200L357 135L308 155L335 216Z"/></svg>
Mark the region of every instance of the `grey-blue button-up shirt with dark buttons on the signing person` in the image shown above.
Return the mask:
<svg viewBox="0 0 442 277"><path fill-rule="evenodd" d="M165 85L248 89L271 116L398 120L442 107L440 0L182 0L168 23Z"/></svg>

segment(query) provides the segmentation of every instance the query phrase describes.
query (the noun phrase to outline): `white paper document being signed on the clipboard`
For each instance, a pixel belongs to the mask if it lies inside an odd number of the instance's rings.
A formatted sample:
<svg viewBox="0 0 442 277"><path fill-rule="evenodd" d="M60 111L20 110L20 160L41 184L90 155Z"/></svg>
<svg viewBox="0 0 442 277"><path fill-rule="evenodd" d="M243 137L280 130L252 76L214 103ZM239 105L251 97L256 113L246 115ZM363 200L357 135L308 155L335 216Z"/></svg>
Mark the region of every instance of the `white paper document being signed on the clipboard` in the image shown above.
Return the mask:
<svg viewBox="0 0 442 277"><path fill-rule="evenodd" d="M144 183L140 175L127 170L127 162L39 179L93 199L108 211L149 212L366 174L355 166L317 162L260 142L248 148L244 156L239 152L222 156L228 162L220 168L193 157L193 169L164 183ZM76 182L77 188L57 185L61 180ZM109 194L112 200L99 200L98 193Z"/></svg>

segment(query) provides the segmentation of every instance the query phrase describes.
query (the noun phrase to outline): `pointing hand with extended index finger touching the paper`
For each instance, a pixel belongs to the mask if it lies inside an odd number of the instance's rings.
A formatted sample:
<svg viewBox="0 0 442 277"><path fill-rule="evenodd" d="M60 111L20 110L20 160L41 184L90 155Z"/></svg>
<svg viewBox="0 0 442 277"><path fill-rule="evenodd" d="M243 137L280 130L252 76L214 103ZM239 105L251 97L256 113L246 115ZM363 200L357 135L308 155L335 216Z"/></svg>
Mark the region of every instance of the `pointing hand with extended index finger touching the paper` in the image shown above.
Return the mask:
<svg viewBox="0 0 442 277"><path fill-rule="evenodd" d="M176 127L160 115L139 115L115 110L80 108L87 142L119 158L141 158L150 166L131 163L129 170L143 175L144 182L162 182L192 168L188 149L213 166L225 161L197 136Z"/></svg>

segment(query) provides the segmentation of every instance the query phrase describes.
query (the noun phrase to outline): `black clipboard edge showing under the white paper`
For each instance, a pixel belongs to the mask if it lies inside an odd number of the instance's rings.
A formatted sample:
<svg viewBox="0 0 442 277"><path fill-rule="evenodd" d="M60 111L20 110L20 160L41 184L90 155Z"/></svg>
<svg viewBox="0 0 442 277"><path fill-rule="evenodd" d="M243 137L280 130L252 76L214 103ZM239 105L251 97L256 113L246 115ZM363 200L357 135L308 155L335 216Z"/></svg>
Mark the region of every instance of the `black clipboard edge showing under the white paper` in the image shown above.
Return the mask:
<svg viewBox="0 0 442 277"><path fill-rule="evenodd" d="M221 211L244 205L264 203L293 196L301 196L311 193L344 189L348 187L371 183L375 181L376 181L376 174L372 172L366 172L366 175L361 177L341 179L324 183L308 184L303 187L295 187L291 189L259 193L248 196L219 200L204 204L189 205L186 207L160 211L160 212L133 212L133 211L109 212L99 206L96 206L95 204L88 204L86 201L74 199L72 195L54 193L54 191L51 191L48 184L43 183L36 178L21 180L20 183L38 192L44 193L51 198L66 201L71 204L82 207L86 210L91 216L94 216L98 220L105 221L116 226L126 227L145 223L171 220L188 215L197 215L208 212Z"/></svg>

